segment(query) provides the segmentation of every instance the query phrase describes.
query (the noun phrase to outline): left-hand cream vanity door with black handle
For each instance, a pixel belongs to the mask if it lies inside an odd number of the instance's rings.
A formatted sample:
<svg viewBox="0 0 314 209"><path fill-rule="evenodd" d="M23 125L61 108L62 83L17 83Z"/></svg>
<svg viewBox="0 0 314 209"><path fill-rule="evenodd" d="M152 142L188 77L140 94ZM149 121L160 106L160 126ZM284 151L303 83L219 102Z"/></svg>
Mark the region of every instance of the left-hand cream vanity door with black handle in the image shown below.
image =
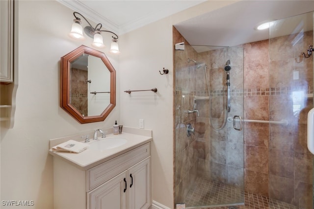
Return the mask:
<svg viewBox="0 0 314 209"><path fill-rule="evenodd" d="M89 209L127 209L127 172L88 192Z"/></svg>

